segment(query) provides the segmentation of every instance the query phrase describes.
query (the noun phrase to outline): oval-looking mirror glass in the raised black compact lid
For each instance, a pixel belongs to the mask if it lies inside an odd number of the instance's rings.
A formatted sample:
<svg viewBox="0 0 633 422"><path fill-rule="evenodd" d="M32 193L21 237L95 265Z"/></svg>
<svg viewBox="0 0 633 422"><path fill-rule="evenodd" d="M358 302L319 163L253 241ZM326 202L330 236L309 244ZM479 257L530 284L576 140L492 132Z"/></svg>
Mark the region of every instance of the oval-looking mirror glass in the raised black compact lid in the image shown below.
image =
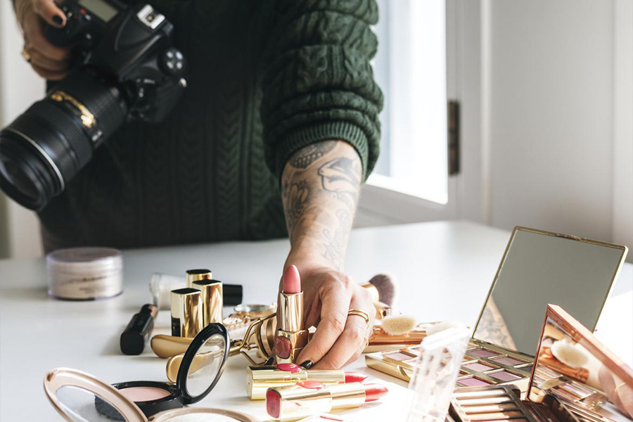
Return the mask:
<svg viewBox="0 0 633 422"><path fill-rule="evenodd" d="M200 346L193 358L187 376L186 390L188 395L201 395L214 383L224 364L224 337L214 334Z"/></svg>

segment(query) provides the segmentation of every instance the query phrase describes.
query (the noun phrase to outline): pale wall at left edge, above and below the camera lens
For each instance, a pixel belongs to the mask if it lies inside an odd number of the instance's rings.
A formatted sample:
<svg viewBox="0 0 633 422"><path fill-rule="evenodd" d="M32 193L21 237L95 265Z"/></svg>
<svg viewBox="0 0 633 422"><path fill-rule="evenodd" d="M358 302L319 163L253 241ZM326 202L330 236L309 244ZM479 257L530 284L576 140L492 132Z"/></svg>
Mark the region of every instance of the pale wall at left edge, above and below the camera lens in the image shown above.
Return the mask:
<svg viewBox="0 0 633 422"><path fill-rule="evenodd" d="M0 127L44 96L44 81L20 56L23 39L11 1L0 1ZM41 255L39 222L0 192L0 258Z"/></svg>

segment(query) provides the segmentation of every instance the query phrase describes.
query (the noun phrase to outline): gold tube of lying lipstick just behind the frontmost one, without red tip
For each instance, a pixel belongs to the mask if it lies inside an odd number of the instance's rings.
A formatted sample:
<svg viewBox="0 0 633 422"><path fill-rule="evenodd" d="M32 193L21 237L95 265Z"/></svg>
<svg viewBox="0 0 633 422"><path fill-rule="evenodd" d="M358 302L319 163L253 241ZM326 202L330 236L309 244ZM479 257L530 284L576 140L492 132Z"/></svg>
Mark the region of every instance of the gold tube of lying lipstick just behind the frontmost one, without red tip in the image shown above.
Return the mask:
<svg viewBox="0 0 633 422"><path fill-rule="evenodd" d="M297 372L281 371L276 366L249 366L246 370L246 394L251 400L263 400L269 388L295 385L301 381L318 381L324 385L345 383L345 371L300 369Z"/></svg>

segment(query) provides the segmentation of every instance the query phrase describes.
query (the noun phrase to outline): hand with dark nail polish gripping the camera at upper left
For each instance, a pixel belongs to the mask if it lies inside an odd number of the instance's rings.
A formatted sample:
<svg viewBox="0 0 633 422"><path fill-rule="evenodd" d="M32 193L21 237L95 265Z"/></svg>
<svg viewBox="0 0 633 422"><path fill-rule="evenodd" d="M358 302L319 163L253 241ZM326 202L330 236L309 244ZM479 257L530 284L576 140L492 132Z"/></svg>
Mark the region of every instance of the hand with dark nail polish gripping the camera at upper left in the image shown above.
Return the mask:
<svg viewBox="0 0 633 422"><path fill-rule="evenodd" d="M15 0L15 15L24 36L23 56L37 75L63 79L70 70L70 47L56 46L46 39L44 27L63 27L66 16L53 0Z"/></svg>

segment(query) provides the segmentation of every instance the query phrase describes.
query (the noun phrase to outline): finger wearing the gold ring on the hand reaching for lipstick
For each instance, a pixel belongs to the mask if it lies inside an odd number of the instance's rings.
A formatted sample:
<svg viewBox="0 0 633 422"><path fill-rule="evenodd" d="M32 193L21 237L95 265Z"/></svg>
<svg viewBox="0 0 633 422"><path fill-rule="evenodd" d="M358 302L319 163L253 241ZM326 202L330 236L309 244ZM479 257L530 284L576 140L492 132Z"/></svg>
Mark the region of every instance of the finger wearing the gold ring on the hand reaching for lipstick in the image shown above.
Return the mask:
<svg viewBox="0 0 633 422"><path fill-rule="evenodd" d="M371 305L371 302L370 302ZM368 304L360 298L354 297L350 303L350 309L362 309L366 311ZM367 312L369 315L369 312ZM369 338L369 327L364 317L359 315L348 315L345 330L339 336L336 343L314 368L316 369L338 369L354 362L362 353L365 342Z"/></svg>

